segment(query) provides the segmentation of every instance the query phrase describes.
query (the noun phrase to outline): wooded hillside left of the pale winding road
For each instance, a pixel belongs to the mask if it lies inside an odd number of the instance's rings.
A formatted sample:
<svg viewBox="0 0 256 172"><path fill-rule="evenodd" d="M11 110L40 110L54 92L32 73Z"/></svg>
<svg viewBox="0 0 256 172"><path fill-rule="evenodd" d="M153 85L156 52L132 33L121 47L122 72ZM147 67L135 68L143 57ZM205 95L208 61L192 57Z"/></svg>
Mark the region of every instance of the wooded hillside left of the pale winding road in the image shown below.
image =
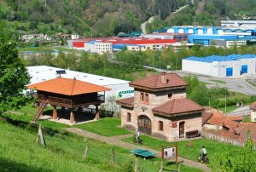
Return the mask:
<svg viewBox="0 0 256 172"><path fill-rule="evenodd" d="M164 19L187 0L0 0L0 3L0 30L108 37L140 30L141 23L155 14L160 13Z"/></svg>

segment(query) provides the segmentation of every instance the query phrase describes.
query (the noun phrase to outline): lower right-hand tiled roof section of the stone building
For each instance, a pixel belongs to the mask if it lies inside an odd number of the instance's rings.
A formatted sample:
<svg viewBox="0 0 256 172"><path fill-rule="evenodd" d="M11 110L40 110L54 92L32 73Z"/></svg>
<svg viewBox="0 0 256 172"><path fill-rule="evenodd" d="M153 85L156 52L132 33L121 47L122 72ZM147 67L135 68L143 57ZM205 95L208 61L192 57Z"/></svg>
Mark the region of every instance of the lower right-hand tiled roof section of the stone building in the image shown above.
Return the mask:
<svg viewBox="0 0 256 172"><path fill-rule="evenodd" d="M202 110L204 110L202 106L186 98L168 100L166 103L152 109L153 112L160 113L163 115L198 112Z"/></svg>

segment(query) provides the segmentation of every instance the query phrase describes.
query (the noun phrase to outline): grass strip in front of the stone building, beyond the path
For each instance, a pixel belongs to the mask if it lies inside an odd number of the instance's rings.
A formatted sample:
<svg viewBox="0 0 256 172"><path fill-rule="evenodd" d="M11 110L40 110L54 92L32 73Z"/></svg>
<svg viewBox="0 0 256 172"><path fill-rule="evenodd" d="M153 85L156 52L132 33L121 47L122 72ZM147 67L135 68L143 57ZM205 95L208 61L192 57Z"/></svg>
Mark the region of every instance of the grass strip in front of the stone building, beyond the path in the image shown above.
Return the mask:
<svg viewBox="0 0 256 172"><path fill-rule="evenodd" d="M142 135L142 139L143 146L147 146L148 148L154 149L156 151L160 151L161 146L170 146L174 144L164 140L154 139L148 135ZM132 137L126 138L124 141L133 143ZM224 152L225 148L230 150L231 156L239 156L239 150L241 149L241 147L238 146L232 146L230 144L219 143L218 141L207 139L191 140L193 144L191 147L187 146L189 142L190 140L177 142L178 156L189 158L194 161L197 160L199 152L201 151L201 146L203 145L207 148L208 157L210 160L211 158L214 158L217 153ZM256 161L256 152L253 152L253 158L253 160Z"/></svg>

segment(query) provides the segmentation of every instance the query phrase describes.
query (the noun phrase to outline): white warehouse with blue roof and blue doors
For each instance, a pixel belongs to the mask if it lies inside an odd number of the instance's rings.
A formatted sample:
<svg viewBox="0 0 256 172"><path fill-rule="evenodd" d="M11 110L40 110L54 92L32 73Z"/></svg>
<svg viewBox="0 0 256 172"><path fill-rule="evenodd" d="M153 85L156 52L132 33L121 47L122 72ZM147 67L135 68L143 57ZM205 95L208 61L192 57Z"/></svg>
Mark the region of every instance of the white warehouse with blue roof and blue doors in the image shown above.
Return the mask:
<svg viewBox="0 0 256 172"><path fill-rule="evenodd" d="M256 74L256 54L211 55L183 59L182 70L212 77L242 77Z"/></svg>

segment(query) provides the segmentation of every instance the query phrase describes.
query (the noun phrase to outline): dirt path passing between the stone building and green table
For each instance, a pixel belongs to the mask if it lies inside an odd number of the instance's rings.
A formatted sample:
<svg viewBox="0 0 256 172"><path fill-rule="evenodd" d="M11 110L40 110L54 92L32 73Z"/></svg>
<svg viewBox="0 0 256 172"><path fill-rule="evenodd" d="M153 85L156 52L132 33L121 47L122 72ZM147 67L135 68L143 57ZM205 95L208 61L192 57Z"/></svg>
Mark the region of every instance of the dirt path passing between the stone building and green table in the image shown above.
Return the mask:
<svg viewBox="0 0 256 172"><path fill-rule="evenodd" d="M114 145L114 146L120 146L120 147L124 147L125 149L146 149L150 152L155 152L156 156L158 158L161 157L161 153L160 152L156 152L155 150L152 149L148 149L147 147L143 147L143 146L138 146L138 145L133 145L131 143L127 143L122 141L125 138L131 137L132 135L117 135L117 136L113 136L113 137L106 137L106 136L102 136L102 135L97 135L95 133L91 133L90 131L86 131L83 129L77 129L77 128L67 128L67 131L77 134L77 135L81 135L84 136L85 138L90 138L90 139L94 139L94 140L100 140L102 142L108 143L110 145ZM201 169L204 171L211 171L207 165L203 164L203 163L197 163L194 161L191 161L189 159L185 159L185 158L179 158L183 160L183 163L189 167L194 167L196 169Z"/></svg>

